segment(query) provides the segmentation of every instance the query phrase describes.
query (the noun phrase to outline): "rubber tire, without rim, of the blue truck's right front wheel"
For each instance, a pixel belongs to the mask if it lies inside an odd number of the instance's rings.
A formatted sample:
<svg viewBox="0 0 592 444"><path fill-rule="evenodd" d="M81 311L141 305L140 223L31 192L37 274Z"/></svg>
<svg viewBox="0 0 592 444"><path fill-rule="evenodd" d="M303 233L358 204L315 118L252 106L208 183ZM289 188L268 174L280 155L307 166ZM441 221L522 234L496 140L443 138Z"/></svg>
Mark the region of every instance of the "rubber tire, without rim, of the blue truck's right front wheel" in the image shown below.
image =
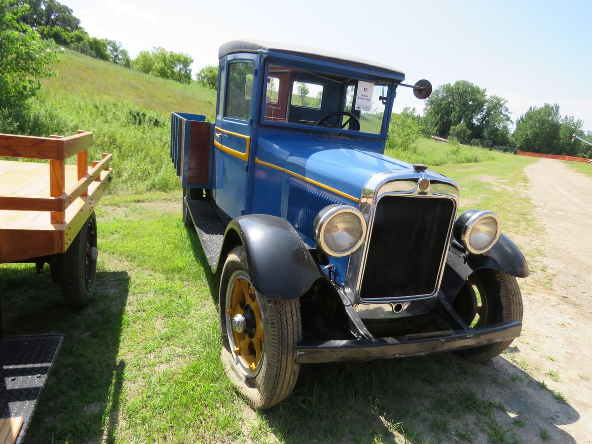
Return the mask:
<svg viewBox="0 0 592 444"><path fill-rule="evenodd" d="M465 287L461 289L461 292L470 292L469 286L476 287L481 296L481 304L487 304L486 314L479 318L475 328L498 322L522 322L522 294L514 276L502 271L484 270L472 275L468 282L465 283ZM467 323L471 324L470 322ZM500 355L512 342L513 339L510 339L472 349L459 350L457 353L469 361L486 363Z"/></svg>

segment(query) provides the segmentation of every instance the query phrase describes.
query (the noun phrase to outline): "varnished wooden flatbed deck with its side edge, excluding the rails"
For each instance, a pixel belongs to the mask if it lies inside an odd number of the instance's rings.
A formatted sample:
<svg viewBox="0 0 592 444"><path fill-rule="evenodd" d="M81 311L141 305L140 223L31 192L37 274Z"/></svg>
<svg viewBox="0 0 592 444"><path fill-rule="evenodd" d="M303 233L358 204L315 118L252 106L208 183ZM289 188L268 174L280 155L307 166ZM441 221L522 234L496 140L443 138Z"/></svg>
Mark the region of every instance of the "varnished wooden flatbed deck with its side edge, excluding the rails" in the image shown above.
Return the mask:
<svg viewBox="0 0 592 444"><path fill-rule="evenodd" d="M0 160L0 195L51 197L49 164ZM87 167L87 172L89 168ZM50 211L0 210L0 263L64 252L107 189L111 170L101 172L65 211L65 221L52 223ZM66 189L78 182L76 165L65 166Z"/></svg>

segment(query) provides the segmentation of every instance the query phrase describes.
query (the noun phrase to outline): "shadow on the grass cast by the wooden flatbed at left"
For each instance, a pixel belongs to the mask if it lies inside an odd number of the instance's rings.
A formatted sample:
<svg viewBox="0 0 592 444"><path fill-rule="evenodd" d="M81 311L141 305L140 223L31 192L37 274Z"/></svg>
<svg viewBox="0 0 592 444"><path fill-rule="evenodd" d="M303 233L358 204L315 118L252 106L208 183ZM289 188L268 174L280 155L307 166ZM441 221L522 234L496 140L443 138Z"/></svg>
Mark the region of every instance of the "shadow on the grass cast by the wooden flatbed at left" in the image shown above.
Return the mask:
<svg viewBox="0 0 592 444"><path fill-rule="evenodd" d="M91 304L73 310L47 266L39 275L34 265L0 269L5 334L65 334L27 442L114 436L124 371L117 353L130 279L126 272L106 271L95 279Z"/></svg>

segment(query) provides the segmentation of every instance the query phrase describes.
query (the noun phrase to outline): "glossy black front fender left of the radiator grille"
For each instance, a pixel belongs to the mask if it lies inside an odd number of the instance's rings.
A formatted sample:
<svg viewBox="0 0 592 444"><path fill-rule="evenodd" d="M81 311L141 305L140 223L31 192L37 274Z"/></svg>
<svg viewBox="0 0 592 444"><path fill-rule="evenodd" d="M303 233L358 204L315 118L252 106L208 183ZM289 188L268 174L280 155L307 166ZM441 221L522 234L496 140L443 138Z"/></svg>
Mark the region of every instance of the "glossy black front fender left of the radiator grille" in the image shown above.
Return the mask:
<svg viewBox="0 0 592 444"><path fill-rule="evenodd" d="M226 256L239 240L247 256L251 282L266 297L279 301L299 298L322 277L292 224L281 217L249 214L231 220L217 268L224 266Z"/></svg>

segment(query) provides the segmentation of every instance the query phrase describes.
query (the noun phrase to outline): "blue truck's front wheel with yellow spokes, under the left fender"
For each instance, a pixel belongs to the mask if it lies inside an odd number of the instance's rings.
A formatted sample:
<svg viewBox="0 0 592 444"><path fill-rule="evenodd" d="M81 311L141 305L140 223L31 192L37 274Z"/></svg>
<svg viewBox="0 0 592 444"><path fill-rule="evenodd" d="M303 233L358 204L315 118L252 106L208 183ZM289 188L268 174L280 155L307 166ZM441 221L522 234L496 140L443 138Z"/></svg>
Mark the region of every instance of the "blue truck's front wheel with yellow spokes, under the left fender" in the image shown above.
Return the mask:
<svg viewBox="0 0 592 444"><path fill-rule="evenodd" d="M224 263L219 301L224 371L250 406L274 406L288 397L298 379L300 365L295 359L302 337L300 300L275 301L256 291L250 282L244 248L239 246ZM238 314L246 319L242 333L233 328Z"/></svg>

